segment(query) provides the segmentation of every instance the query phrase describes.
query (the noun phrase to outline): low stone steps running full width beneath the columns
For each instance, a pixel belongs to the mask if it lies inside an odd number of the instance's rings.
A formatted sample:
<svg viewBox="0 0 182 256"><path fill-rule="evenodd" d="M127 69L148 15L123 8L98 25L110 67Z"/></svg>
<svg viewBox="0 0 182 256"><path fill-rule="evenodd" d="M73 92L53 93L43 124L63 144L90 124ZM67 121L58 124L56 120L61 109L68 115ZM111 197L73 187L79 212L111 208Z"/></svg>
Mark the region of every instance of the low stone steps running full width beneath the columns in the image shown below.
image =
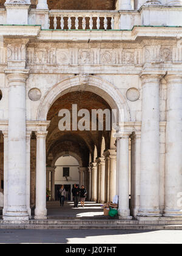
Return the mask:
<svg viewBox="0 0 182 256"><path fill-rule="evenodd" d="M21 223L1 220L0 229L182 230L182 220L125 221L120 219L32 219Z"/></svg>

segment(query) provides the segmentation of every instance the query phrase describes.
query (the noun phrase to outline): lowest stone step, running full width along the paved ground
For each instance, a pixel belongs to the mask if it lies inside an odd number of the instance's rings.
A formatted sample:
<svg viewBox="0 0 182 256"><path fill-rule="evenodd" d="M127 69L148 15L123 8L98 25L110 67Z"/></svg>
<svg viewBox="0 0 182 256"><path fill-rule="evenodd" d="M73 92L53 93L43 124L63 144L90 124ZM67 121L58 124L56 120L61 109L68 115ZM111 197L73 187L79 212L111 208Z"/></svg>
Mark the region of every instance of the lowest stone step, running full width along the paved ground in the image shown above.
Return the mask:
<svg viewBox="0 0 182 256"><path fill-rule="evenodd" d="M149 224L123 224L123 225L95 225L95 224L1 224L0 229L108 229L108 230L182 230L182 225L149 225Z"/></svg>

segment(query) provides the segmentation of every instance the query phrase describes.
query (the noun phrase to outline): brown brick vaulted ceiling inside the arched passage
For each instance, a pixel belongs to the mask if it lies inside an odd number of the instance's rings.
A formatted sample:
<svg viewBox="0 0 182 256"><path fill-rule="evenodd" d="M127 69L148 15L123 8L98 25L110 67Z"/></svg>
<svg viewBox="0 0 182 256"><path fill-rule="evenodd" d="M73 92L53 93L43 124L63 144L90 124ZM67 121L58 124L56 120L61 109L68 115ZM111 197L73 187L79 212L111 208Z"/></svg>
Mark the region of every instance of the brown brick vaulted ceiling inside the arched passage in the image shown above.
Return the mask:
<svg viewBox="0 0 182 256"><path fill-rule="evenodd" d="M57 99L47 115L47 120L51 121L47 135L47 157L50 154L53 155L53 157L56 157L56 155L63 151L70 151L79 155L83 161L83 165L88 166L89 153L93 155L95 145L98 148L99 156L101 154L99 150L101 148L102 137L105 138L106 147L109 148L110 132L106 130L92 131L91 129L89 131L75 131L71 129L70 131L63 132L59 130L58 124L61 117L58 116L58 113L62 109L67 109L72 114L72 104L77 104L78 111L80 109L89 110L90 121L92 109L110 109L110 106L103 98L89 91L73 91L72 93L64 94ZM78 121L79 119L80 118L78 118ZM72 119L70 121L72 128Z"/></svg>

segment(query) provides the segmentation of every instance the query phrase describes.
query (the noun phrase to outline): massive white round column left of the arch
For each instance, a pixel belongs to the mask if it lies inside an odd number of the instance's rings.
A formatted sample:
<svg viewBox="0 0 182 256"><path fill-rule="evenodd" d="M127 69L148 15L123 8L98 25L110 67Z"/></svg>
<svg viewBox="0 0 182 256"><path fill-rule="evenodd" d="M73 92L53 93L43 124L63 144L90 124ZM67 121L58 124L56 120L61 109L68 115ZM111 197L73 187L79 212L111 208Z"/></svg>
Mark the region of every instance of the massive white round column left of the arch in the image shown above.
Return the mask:
<svg viewBox="0 0 182 256"><path fill-rule="evenodd" d="M28 220L26 193L26 101L28 70L5 70L8 80L7 208L4 219Z"/></svg>

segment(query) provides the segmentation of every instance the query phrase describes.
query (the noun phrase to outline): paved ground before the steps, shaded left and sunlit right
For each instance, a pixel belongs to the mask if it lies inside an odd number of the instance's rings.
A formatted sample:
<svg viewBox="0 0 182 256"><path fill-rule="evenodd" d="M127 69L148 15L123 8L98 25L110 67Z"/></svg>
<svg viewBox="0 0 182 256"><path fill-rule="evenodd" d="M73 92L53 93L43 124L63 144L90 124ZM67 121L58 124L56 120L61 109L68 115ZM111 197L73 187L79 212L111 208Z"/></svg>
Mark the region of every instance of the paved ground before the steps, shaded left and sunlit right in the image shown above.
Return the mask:
<svg viewBox="0 0 182 256"><path fill-rule="evenodd" d="M182 244L182 230L0 230L0 243Z"/></svg>

